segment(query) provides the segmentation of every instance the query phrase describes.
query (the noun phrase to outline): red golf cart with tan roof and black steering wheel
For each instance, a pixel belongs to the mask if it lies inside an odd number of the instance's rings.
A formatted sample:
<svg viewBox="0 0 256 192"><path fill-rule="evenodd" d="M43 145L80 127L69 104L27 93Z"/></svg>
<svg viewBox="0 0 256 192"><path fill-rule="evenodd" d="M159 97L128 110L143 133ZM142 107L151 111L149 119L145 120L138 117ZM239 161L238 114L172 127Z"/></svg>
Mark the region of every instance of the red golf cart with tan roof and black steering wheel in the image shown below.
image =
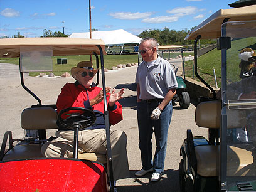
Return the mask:
<svg viewBox="0 0 256 192"><path fill-rule="evenodd" d="M25 72L52 70L52 56L94 55L97 68L101 69L104 90L107 154L78 154L78 131L95 122L91 110L72 107L57 114L56 105L44 105L24 83ZM0 40L0 57L19 57L22 87L38 104L23 109L21 127L33 132L26 139L13 139L12 132L4 134L0 151L1 191L114 191L109 120L104 76L105 44L102 40L82 38L10 38ZM99 67L100 56L100 67ZM99 72L97 83L99 84ZM80 113L77 111L80 110ZM61 119L63 112L70 112ZM74 131L73 158L46 159L41 146L52 138L47 129L58 129L56 122ZM14 144L17 143L18 144ZM108 169L108 171L107 171ZM109 173L109 174L107 174ZM112 186L112 187L110 187Z"/></svg>

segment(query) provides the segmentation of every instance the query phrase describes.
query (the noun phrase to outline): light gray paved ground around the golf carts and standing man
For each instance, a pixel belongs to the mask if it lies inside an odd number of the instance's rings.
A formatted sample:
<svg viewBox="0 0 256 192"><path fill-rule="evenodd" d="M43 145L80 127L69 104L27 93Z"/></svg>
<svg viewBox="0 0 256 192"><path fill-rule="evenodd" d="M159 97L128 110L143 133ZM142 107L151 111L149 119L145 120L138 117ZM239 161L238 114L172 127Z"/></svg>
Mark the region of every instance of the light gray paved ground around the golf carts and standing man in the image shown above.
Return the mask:
<svg viewBox="0 0 256 192"><path fill-rule="evenodd" d="M180 61L175 63L179 67ZM139 152L139 136L137 131L136 114L136 85L134 84L137 67L122 68L117 71L110 70L105 73L106 85L112 88L125 88L123 105L124 120L112 127L125 131L128 137L127 152L129 157L130 178L117 181L118 191L179 191L178 165L181 157L179 147L186 137L186 129L191 129L195 136L207 136L207 129L202 129L195 124L195 104L192 102L188 109L180 109L179 105L173 106L173 117L168 131L168 148L164 174L161 181L152 183L151 173L144 177L136 177L134 173L141 169L141 156ZM33 91L42 101L42 104L55 104L61 87L67 82L74 82L73 78L46 78L24 77L25 85ZM100 86L100 85L99 85ZM0 141L4 132L13 131L14 138L24 136L19 120L22 110L38 102L21 87L18 66L0 63ZM47 132L48 136L54 134ZM154 154L154 136L152 139Z"/></svg>

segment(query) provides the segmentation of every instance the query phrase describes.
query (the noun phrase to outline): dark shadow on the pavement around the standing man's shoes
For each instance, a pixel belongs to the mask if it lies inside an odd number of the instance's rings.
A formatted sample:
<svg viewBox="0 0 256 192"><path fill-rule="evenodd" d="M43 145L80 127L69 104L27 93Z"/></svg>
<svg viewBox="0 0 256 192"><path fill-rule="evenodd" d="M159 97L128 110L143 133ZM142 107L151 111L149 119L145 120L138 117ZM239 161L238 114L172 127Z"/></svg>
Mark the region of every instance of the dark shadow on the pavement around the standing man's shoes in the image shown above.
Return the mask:
<svg viewBox="0 0 256 192"><path fill-rule="evenodd" d="M138 170L130 170L131 178L134 178L134 185L132 186L117 186L117 191L139 191L139 192L155 192L155 191L172 191L179 192L179 171L178 169L165 170L160 181L150 181L152 173L147 173L143 178L147 182L141 181L140 177L134 175Z"/></svg>

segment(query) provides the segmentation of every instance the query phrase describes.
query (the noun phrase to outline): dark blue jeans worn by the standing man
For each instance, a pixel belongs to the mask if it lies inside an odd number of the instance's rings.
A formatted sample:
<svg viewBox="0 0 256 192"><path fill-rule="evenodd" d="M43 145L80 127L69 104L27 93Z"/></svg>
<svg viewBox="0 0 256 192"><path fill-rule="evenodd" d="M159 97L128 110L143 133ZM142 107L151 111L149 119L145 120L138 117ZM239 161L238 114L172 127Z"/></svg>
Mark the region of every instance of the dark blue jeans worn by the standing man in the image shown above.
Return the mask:
<svg viewBox="0 0 256 192"><path fill-rule="evenodd" d="M154 172L162 173L164 171L164 159L166 154L168 128L173 113L173 105L169 102L161 112L158 120L150 119L152 111L160 102L138 102L137 120L139 126L139 149L141 150L142 169L148 170L152 167ZM152 160L152 134L156 138L156 151L154 161Z"/></svg>

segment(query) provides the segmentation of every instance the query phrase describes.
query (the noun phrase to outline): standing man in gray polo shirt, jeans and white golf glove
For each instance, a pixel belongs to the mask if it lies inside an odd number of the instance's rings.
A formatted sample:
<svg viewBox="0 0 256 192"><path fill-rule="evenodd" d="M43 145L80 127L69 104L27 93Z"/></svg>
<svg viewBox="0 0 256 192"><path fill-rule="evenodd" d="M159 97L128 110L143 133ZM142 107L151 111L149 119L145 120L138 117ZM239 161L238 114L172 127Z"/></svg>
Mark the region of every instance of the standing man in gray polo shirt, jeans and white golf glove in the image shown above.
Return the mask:
<svg viewBox="0 0 256 192"><path fill-rule="evenodd" d="M135 173L144 176L154 171L151 181L159 181L164 171L168 128L176 94L173 67L157 54L158 43L154 38L144 38L139 52L144 61L137 68L137 121L142 169ZM152 159L152 134L156 136L156 151Z"/></svg>

